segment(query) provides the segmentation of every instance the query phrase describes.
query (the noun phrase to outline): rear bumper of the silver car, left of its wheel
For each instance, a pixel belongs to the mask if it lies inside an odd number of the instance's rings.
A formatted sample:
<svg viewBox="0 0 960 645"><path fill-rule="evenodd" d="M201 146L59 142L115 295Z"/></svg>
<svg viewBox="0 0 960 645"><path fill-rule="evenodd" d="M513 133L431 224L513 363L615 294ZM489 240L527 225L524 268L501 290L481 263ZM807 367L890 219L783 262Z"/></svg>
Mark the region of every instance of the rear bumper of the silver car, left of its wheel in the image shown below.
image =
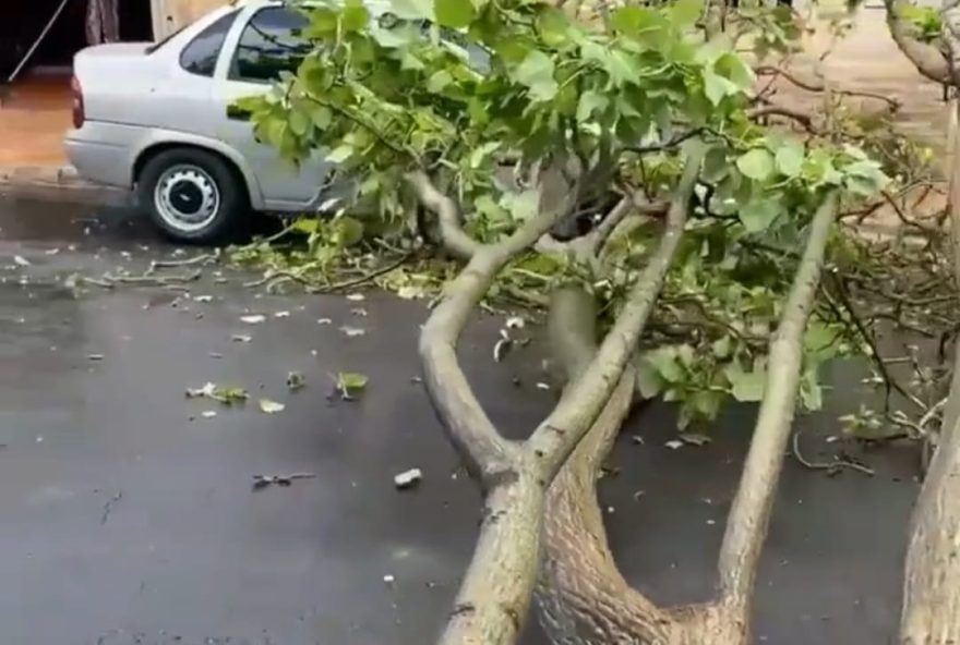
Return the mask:
<svg viewBox="0 0 960 645"><path fill-rule="evenodd" d="M63 150L81 178L106 186L133 187L133 149L142 129L88 121L71 130Z"/></svg>

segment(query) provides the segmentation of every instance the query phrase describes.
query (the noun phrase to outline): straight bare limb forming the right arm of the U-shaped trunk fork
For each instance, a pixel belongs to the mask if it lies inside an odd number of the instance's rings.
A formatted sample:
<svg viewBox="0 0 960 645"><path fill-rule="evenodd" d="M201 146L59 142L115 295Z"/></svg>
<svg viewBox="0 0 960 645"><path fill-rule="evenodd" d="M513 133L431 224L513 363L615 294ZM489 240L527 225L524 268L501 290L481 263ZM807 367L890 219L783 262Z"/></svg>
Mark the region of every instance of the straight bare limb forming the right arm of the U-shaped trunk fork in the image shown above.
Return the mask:
<svg viewBox="0 0 960 645"><path fill-rule="evenodd" d="M783 455L796 410L803 336L819 284L824 252L837 210L830 195L817 210L809 239L770 341L767 384L740 488L720 547L720 586L734 620L749 618L757 562L767 535Z"/></svg>

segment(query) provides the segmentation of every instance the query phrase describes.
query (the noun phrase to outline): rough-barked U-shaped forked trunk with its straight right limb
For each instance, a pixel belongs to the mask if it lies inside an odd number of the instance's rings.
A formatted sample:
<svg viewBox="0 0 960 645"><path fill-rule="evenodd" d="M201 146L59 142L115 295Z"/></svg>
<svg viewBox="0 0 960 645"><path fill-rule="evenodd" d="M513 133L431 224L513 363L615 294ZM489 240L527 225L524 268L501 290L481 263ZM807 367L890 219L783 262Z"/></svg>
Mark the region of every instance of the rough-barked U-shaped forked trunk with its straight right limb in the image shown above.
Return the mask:
<svg viewBox="0 0 960 645"><path fill-rule="evenodd" d="M634 375L627 372L548 491L537 596L541 623L555 645L749 643L751 596L796 406L804 330L835 211L830 196L813 220L771 341L766 392L721 546L717 599L661 609L629 586L610 551L596 480L628 410ZM580 297L588 303L586 293ZM589 332L581 334L584 345L591 342Z"/></svg>

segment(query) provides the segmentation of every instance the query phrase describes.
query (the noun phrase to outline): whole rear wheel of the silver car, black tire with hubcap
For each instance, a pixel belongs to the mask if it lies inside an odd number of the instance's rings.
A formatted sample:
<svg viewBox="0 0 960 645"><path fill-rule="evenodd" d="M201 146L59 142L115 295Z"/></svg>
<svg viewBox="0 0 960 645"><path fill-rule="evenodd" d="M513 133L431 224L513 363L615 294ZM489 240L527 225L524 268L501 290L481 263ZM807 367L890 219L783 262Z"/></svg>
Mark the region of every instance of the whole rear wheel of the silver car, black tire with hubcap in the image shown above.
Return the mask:
<svg viewBox="0 0 960 645"><path fill-rule="evenodd" d="M136 196L160 231L181 243L228 242L249 219L243 180L221 157L199 148L152 157L140 172Z"/></svg>

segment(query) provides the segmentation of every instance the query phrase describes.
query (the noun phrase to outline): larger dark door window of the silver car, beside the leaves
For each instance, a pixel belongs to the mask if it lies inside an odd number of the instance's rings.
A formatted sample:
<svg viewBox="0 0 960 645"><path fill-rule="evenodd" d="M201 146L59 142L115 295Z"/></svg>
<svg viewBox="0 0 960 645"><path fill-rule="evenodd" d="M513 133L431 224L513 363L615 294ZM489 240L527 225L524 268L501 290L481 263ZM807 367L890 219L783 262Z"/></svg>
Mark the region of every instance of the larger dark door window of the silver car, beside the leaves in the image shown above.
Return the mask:
<svg viewBox="0 0 960 645"><path fill-rule="evenodd" d="M240 35L230 78L271 83L280 72L296 72L311 46L300 37L308 17L283 7L261 9Z"/></svg>

